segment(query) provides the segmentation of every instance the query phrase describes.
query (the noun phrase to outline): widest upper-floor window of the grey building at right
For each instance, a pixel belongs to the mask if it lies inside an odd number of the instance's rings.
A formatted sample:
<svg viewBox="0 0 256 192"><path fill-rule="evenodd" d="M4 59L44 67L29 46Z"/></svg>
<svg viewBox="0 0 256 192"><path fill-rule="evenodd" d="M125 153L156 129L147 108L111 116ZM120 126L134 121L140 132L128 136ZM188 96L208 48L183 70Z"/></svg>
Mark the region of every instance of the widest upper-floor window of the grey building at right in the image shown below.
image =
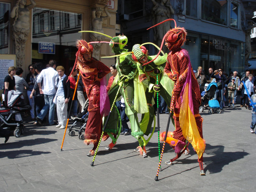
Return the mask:
<svg viewBox="0 0 256 192"><path fill-rule="evenodd" d="M226 0L202 0L203 20L227 25L227 1Z"/></svg>

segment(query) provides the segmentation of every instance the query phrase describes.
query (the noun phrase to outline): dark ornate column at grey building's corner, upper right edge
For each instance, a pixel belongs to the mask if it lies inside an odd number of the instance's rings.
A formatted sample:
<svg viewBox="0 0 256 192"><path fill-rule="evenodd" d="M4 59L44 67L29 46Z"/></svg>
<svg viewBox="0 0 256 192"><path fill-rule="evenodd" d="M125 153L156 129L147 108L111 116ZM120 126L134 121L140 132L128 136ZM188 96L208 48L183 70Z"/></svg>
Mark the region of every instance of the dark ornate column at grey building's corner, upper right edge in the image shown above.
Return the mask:
<svg viewBox="0 0 256 192"><path fill-rule="evenodd" d="M252 20L253 12L256 10L255 0L241 0L244 5L245 12L241 12L241 26L245 31L245 67L249 67L248 59L251 53L251 30L255 27Z"/></svg>

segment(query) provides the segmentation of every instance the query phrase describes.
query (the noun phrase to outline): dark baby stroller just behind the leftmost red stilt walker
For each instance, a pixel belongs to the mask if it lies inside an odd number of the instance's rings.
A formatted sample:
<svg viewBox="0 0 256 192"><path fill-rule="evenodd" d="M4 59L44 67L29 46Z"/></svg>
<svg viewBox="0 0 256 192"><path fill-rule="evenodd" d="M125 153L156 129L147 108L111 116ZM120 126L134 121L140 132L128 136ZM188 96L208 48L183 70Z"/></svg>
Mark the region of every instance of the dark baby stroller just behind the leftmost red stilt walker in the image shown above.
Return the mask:
<svg viewBox="0 0 256 192"><path fill-rule="evenodd" d="M78 113L77 117L71 118L75 122L68 129L69 136L75 136L75 131L77 131L79 139L84 140L84 134L82 134L82 132L85 131L86 123L89 116L88 106L89 106L89 99L87 99L85 102L84 111L82 113ZM75 126L78 125L79 123L80 123L80 128L75 128Z"/></svg>

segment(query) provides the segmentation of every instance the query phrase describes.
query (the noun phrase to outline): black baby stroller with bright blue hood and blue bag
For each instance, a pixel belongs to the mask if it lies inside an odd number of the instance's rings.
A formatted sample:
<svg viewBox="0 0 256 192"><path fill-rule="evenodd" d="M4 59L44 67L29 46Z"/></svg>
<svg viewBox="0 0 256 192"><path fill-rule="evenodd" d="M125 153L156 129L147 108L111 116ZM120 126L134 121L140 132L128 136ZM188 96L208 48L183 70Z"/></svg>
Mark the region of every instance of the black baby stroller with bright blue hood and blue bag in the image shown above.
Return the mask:
<svg viewBox="0 0 256 192"><path fill-rule="evenodd" d="M209 114L212 114L213 112L221 113L219 102L217 99L214 98L217 88L218 86L216 82L211 82L210 84L207 85L207 87L205 87L206 91L203 97L201 98L202 104L199 107L200 112L203 112L205 109L209 109L208 110Z"/></svg>

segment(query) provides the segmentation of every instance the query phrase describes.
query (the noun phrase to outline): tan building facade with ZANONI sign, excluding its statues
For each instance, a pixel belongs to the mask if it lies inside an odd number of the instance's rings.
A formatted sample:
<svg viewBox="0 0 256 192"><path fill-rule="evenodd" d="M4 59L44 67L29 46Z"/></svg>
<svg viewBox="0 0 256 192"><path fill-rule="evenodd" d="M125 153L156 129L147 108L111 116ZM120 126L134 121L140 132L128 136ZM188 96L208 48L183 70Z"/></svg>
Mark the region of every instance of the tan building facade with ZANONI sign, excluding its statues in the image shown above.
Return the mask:
<svg viewBox="0 0 256 192"><path fill-rule="evenodd" d="M8 56L16 54L12 35L14 19L11 18L11 11L16 2L15 0L0 0L0 65L1 68L5 67L2 74L0 73L1 82L8 74L6 68L11 65L6 64L5 61L10 58ZM26 5L31 4L30 0L25 2ZM30 27L22 65L24 76L29 72L29 64L48 63L50 59L56 60L58 65L63 65L66 69L65 74L68 75L68 69L74 66L75 62L76 41L81 38L87 42L90 41L89 33L78 33L78 31L92 30L92 14L95 14L97 9L101 10L101 16L105 17L104 8L107 6L110 17L103 20L102 29L110 36L116 34L117 0L35 0L35 3L35 7L29 10ZM111 54L111 49L108 44L102 44L100 55L109 54ZM101 61L108 66L114 63L114 59L102 59Z"/></svg>

